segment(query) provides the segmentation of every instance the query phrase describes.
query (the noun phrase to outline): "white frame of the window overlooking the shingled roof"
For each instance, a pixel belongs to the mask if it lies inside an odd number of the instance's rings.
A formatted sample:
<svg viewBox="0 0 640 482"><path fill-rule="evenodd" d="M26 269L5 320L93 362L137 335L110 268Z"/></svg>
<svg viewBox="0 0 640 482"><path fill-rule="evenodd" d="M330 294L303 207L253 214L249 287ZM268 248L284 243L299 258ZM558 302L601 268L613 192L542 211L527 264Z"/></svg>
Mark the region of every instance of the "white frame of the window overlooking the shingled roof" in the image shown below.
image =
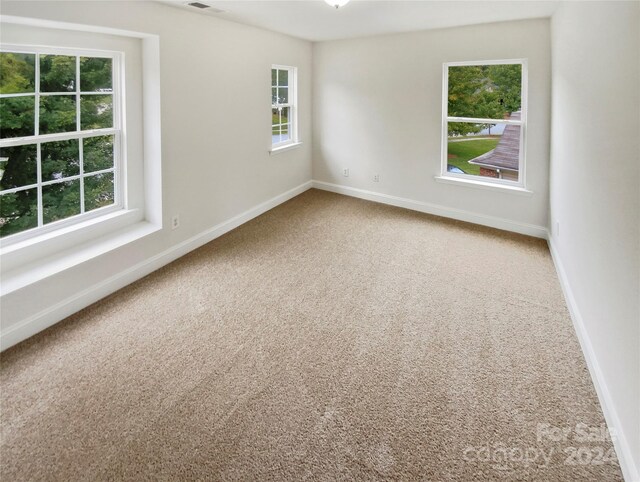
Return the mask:
<svg viewBox="0 0 640 482"><path fill-rule="evenodd" d="M510 119L484 119L475 117L449 117L449 67L460 66L480 66L480 65L511 65L522 66L522 83L520 97L520 120ZM442 149L441 149L441 172L436 180L444 182L454 182L477 186L487 186L497 189L510 189L526 191L526 140L527 140L527 93L528 93L528 68L527 59L506 59L506 60L482 60L467 62L445 62L442 68ZM471 122L477 124L511 124L520 126L520 149L518 161L518 181L508 179L497 179L492 177L475 176L472 174L460 174L447 171L448 153L448 123L449 122ZM528 192L528 191L527 191Z"/></svg>

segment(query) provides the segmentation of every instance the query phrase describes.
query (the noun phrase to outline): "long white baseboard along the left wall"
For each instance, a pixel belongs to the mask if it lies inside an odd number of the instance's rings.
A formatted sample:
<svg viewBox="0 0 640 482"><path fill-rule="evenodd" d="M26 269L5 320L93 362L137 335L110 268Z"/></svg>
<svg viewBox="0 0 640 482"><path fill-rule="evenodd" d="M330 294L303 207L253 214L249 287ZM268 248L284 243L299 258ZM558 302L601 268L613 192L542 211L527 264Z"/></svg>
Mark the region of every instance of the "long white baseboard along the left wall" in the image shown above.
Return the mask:
<svg viewBox="0 0 640 482"><path fill-rule="evenodd" d="M294 198L304 191L311 189L311 184L311 181L305 182L298 187L258 204L257 206L254 206L253 208L234 216L227 221L213 226L212 228L172 246L171 248L152 256L151 258L148 258L125 271L88 287L74 296L62 300L46 310L36 313L35 315L10 326L0 333L0 350L6 350L11 346L26 340L36 333L49 328L66 317L104 298L105 296L124 288L134 281L137 281L181 256L184 256L190 251L213 241L232 229L237 228L241 224L244 224L262 213L273 209L279 204Z"/></svg>

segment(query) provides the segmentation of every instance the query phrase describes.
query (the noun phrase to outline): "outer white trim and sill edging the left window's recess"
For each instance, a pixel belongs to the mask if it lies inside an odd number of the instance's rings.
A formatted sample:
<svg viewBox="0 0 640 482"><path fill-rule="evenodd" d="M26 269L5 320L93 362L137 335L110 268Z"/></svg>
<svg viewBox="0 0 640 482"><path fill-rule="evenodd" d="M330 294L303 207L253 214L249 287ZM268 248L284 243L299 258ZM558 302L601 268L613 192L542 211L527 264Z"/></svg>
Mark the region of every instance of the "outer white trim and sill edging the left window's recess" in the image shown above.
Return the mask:
<svg viewBox="0 0 640 482"><path fill-rule="evenodd" d="M22 289L81 263L112 252L163 228L160 110L160 38L158 35L95 25L0 16L2 23L106 34L140 40L142 57L143 204L3 247L0 242L0 295ZM82 50L76 49L73 50ZM126 115L123 113L123 122ZM127 177L127 173L123 172ZM126 202L126 193L125 202Z"/></svg>

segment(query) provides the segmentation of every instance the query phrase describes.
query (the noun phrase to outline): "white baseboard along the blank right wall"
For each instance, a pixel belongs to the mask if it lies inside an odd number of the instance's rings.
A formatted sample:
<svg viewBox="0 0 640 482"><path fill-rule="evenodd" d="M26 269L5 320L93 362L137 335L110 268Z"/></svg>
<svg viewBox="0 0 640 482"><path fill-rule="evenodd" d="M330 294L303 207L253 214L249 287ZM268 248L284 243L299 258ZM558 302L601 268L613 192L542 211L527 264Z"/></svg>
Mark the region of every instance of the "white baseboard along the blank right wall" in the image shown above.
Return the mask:
<svg viewBox="0 0 640 482"><path fill-rule="evenodd" d="M596 354L591 343L591 338L589 337L589 333L587 332L584 324L584 319L582 318L582 314L580 313L578 304L576 303L575 297L573 296L573 291L571 290L571 285L569 284L569 278L567 277L567 273L560 259L560 255L558 253L558 250L556 249L553 236L548 235L547 242L549 243L549 251L551 251L551 257L553 258L553 263L555 264L558 278L560 279L560 285L562 286L562 291L564 292L567 307L569 308L569 314L571 315L571 320L573 321L573 327L576 330L576 334L578 335L582 353L584 354L584 358L587 362L587 367L589 368L589 373L591 374L593 385L595 386L596 393L598 394L598 399L600 401L600 406L602 407L604 418L609 428L613 429L615 432L613 445L618 456L618 461L620 462L622 474L627 482L639 482L640 473L638 472L638 467L636 467L636 464L634 462L633 453L629 448L629 444L623 430L624 426L622 425L622 423L620 423L618 412L616 411L615 405L613 404L613 398L611 397L611 393L607 388L606 380L604 378L602 370L600 369L598 359L596 358Z"/></svg>

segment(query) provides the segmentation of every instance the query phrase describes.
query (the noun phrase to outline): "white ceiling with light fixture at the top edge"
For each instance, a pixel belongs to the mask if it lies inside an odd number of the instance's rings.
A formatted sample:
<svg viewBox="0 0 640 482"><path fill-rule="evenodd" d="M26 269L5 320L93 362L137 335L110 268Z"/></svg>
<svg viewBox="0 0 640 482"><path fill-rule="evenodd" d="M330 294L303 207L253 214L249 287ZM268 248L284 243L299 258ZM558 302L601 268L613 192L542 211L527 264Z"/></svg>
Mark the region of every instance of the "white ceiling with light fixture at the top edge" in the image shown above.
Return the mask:
<svg viewBox="0 0 640 482"><path fill-rule="evenodd" d="M324 0L161 0L190 11L311 41L368 37L433 28L550 17L558 1L351 0L336 10Z"/></svg>

